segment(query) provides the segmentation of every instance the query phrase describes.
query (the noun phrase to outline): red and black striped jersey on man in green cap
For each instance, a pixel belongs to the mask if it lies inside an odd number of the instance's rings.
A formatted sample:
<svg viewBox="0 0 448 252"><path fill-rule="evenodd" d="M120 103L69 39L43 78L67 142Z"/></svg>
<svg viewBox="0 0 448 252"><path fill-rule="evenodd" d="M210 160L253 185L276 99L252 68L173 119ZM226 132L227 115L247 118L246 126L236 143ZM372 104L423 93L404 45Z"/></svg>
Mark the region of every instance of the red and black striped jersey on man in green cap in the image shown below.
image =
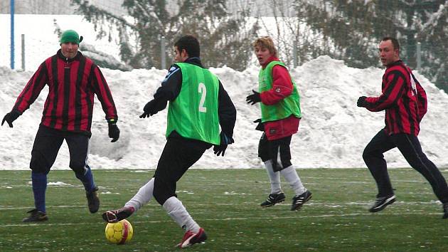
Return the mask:
<svg viewBox="0 0 448 252"><path fill-rule="evenodd" d="M109 86L95 63L82 53L65 58L59 50L41 63L16 100L15 110L24 112L48 85L41 125L69 132L89 132L95 94L106 120L117 120Z"/></svg>

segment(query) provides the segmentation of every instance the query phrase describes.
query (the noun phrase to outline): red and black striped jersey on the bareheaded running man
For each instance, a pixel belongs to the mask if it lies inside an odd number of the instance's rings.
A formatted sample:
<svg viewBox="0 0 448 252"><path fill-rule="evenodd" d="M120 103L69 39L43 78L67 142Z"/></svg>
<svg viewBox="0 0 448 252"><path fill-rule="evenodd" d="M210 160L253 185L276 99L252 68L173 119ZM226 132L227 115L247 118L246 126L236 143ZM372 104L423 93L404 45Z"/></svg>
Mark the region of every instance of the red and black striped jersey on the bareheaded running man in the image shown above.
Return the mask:
<svg viewBox="0 0 448 252"><path fill-rule="evenodd" d="M389 135L417 136L420 132L420 121L427 111L426 93L402 61L387 66L382 94L365 101L365 107L370 111L385 110L385 130Z"/></svg>

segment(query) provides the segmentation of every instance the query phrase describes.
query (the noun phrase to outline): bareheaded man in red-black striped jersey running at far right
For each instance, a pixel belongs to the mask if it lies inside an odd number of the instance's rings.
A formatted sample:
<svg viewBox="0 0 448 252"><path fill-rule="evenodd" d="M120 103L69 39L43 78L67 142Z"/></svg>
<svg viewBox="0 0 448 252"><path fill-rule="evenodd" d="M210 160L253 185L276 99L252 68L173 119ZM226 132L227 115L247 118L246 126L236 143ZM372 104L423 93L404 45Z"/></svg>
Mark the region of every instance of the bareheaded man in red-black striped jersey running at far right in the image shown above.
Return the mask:
<svg viewBox="0 0 448 252"><path fill-rule="evenodd" d="M363 152L370 173L378 186L375 204L370 212L383 210L395 201L383 153L397 147L410 166L430 182L434 193L443 204L443 219L448 218L448 187L439 169L422 152L417 138L420 121L427 111L425 90L415 79L410 68L400 60L397 39L386 37L380 42L379 54L386 70L382 93L378 97L362 96L358 107L377 112L385 110L385 127L368 143Z"/></svg>

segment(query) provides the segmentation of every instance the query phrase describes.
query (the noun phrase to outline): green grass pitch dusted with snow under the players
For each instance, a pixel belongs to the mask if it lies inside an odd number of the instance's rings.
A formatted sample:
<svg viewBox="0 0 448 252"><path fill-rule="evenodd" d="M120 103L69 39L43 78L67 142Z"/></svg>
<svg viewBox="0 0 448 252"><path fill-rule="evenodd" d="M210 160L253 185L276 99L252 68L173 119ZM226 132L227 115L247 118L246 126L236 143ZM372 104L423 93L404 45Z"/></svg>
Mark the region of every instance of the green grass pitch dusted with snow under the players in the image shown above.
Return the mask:
<svg viewBox="0 0 448 252"><path fill-rule="evenodd" d="M208 234L186 251L448 251L448 219L430 185L413 169L390 169L397 201L368 212L376 187L368 169L298 169L313 199L289 211L292 190L282 180L283 204L262 209L269 194L265 169L191 169L178 198ZM447 170L442 172L448 177ZM132 241L105 239L101 213L121 207L154 171L94 170L100 211L90 214L71 171L48 175L49 221L24 224L33 209L30 171L0 172L0 251L178 251L183 230L151 201L128 220Z"/></svg>

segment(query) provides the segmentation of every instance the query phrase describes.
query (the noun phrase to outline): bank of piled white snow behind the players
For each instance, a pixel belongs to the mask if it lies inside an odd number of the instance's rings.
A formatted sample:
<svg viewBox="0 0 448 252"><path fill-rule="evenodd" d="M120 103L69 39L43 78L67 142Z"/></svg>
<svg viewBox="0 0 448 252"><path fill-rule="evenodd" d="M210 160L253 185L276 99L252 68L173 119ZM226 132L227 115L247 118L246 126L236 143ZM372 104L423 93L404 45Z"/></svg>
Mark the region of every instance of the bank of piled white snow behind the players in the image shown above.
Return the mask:
<svg viewBox="0 0 448 252"><path fill-rule="evenodd" d="M0 15L2 23L4 16ZM39 19L30 22L30 27L33 27L34 22L43 21ZM78 29L80 34L87 38L94 36L92 26L89 28L88 23L84 26L83 21L77 22L76 27L83 29ZM53 27L41 25L40 30L33 28L34 30L29 31L36 38L33 47L28 47L27 51L27 57L32 58L32 62L27 61L29 71L10 70L9 54L0 53L0 65L4 65L0 66L0 118L11 110L17 95L38 64L59 48L58 38L51 38ZM60 26L63 29L73 28ZM0 35L2 38L8 38L9 31L4 30L0 30ZM41 34L45 39L39 38ZM7 43L6 39L0 40L0 48L6 48ZM100 48L104 42L89 43L94 46L98 43ZM114 49L109 51L113 54ZM260 110L258 105L250 106L245 103L245 97L257 86L259 69L252 66L242 72L230 68L210 70L218 75L237 107L235 144L228 147L225 157L215 157L213 151L209 150L194 167L262 167L260 159L257 158L257 144L261 133L254 130L255 123L252 122L260 117ZM303 112L299 133L294 135L291 145L292 162L296 167L365 167L361 157L363 148L384 126L384 112L368 112L356 107L356 100L361 95L374 96L380 93L383 71L380 68L349 68L343 61L336 61L328 56L320 56L291 70L302 95ZM139 115L163 80L166 70L153 68L122 72L102 69L102 72L117 105L121 136L118 142L110 143L104 113L96 100L90 166L94 169L155 168L165 143L166 111L149 119L140 119ZM419 135L422 148L437 166L448 167L448 95L424 76L416 73L416 77L426 89L429 99L428 112L422 121L422 131ZM31 148L47 92L48 89L44 88L30 110L14 122L14 128L6 125L0 127L0 169L28 169ZM389 167L408 167L396 149L387 152L385 158ZM53 169L68 169L68 149L65 144L60 149Z"/></svg>

